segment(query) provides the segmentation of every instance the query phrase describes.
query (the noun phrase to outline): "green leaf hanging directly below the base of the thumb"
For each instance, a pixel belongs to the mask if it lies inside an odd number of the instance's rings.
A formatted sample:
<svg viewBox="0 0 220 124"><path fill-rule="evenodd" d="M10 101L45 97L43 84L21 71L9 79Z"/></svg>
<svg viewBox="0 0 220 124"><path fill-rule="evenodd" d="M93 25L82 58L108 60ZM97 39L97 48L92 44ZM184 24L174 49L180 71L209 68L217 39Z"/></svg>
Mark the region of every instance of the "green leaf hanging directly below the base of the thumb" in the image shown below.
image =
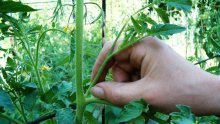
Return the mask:
<svg viewBox="0 0 220 124"><path fill-rule="evenodd" d="M145 110L145 104L143 101L133 101L124 107L119 117L116 119L117 122L127 122L139 117Z"/></svg>

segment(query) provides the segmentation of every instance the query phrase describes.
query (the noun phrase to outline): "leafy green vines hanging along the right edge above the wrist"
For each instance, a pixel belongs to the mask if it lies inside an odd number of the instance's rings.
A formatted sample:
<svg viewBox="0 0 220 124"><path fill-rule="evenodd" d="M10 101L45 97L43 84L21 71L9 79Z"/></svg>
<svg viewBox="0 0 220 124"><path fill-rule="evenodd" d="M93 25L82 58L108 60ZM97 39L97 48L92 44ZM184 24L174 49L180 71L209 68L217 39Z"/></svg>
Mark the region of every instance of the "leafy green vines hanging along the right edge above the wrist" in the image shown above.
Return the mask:
<svg viewBox="0 0 220 124"><path fill-rule="evenodd" d="M195 7L198 7L199 9L198 20L195 22L194 32L194 43L196 44L194 46L195 58L197 58L197 60L205 58L202 54L204 51L206 56L210 59L213 59L212 62L215 64L212 64L212 67L209 67L208 64L202 63L200 66L215 74L219 74L220 66L220 62L218 60L220 53L219 4L219 1L215 0L199 0L195 3ZM194 23L192 25L194 25Z"/></svg>

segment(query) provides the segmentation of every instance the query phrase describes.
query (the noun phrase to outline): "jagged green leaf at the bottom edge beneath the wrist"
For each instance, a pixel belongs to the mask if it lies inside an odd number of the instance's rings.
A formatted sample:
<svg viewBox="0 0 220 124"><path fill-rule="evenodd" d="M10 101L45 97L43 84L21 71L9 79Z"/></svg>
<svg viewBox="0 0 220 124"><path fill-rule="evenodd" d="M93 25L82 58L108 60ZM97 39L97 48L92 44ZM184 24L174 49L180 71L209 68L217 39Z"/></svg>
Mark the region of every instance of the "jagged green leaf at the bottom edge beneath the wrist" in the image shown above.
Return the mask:
<svg viewBox="0 0 220 124"><path fill-rule="evenodd" d="M171 113L171 122L173 124L194 124L195 116L191 113L191 109L185 105L176 106L180 112Z"/></svg>

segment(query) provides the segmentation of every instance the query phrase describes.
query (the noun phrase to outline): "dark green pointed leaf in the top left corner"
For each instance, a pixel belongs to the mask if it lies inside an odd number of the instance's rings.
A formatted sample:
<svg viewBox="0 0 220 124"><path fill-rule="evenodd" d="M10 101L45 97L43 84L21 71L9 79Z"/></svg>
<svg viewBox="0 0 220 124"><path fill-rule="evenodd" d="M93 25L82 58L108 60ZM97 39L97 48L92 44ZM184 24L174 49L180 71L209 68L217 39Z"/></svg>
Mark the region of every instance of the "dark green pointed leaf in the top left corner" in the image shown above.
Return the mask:
<svg viewBox="0 0 220 124"><path fill-rule="evenodd" d="M32 12L36 9L24 5L21 2L0 1L0 13L15 13L15 12Z"/></svg>

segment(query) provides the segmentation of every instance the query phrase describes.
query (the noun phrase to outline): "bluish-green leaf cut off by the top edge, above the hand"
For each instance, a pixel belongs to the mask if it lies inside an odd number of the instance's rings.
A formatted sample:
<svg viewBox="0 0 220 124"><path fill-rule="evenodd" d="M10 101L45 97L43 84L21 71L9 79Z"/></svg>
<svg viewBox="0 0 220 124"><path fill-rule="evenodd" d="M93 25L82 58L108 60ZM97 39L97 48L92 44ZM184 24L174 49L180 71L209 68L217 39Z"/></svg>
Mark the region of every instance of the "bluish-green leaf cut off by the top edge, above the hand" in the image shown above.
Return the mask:
<svg viewBox="0 0 220 124"><path fill-rule="evenodd" d="M191 0L166 0L168 7L175 7L178 10L189 12L192 8Z"/></svg>

